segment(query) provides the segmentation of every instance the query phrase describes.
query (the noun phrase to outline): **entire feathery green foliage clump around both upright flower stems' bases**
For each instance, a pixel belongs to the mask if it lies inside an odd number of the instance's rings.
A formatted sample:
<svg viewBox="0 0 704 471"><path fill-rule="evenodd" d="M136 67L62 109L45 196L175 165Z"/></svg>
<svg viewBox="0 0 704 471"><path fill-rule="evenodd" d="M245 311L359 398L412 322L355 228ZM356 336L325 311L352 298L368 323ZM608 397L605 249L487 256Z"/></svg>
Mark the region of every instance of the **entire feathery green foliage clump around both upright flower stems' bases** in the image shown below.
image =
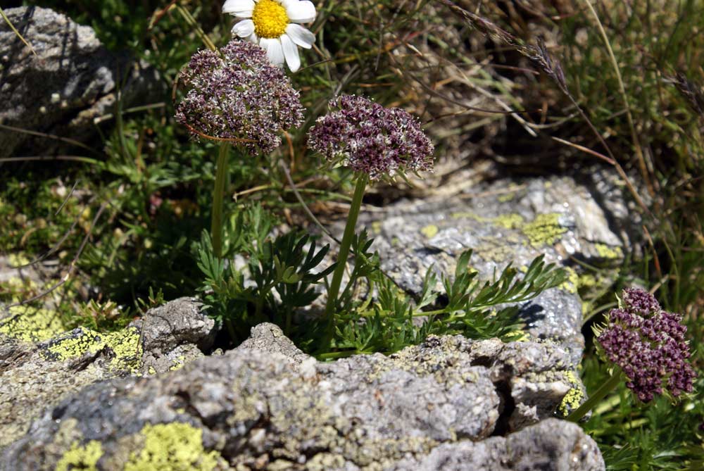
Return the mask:
<svg viewBox="0 0 704 471"><path fill-rule="evenodd" d="M298 346L320 358L393 353L429 334L519 339L521 322L515 304L558 286L566 276L564 270L538 257L522 276L508 266L496 280L482 282L477 272L470 271L472 251L467 251L458 259L455 275L441 277L441 291L436 291L433 268L427 270L420 296L414 300L380 270L378 254L370 251L372 239L361 232L353 239L354 264L334 312L334 338L327 344L323 341L327 321L318 317L316 311L322 306L316 308L314 303L320 296L315 285L334 269L334 265L318 268L328 246L317 249L310 236L296 232L272 237L272 225L271 216L259 206L233 215L225 230L225 258L213 254L210 237L203 231L194 246L204 275L203 299L234 341L248 337L249 329L259 322L274 322ZM237 254L246 263L235 263ZM442 306L424 310L434 304Z"/></svg>

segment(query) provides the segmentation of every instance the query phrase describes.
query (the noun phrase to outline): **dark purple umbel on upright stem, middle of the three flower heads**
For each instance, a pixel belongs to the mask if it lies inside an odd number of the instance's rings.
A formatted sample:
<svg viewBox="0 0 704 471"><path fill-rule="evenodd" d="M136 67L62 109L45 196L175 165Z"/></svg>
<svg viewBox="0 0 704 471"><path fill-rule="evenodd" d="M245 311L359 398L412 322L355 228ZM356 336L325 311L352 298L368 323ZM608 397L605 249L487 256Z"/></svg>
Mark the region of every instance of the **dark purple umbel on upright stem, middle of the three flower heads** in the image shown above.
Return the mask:
<svg viewBox="0 0 704 471"><path fill-rule="evenodd" d="M333 111L319 118L308 134L308 146L328 160L341 161L372 180L432 170L433 144L406 111L354 95L338 96L329 106Z"/></svg>

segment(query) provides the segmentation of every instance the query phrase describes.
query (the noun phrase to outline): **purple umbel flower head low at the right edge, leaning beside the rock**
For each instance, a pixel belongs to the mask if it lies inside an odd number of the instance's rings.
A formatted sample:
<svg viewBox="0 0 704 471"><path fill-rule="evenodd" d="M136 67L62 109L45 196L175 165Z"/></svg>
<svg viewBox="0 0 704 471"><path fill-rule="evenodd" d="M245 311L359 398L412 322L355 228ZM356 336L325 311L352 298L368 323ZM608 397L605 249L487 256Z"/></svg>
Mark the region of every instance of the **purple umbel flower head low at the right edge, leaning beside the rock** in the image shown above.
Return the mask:
<svg viewBox="0 0 704 471"><path fill-rule="evenodd" d="M628 378L627 387L648 402L663 387L674 397L692 391L696 372L688 361L686 332L681 315L662 310L648 291L628 288L597 340Z"/></svg>

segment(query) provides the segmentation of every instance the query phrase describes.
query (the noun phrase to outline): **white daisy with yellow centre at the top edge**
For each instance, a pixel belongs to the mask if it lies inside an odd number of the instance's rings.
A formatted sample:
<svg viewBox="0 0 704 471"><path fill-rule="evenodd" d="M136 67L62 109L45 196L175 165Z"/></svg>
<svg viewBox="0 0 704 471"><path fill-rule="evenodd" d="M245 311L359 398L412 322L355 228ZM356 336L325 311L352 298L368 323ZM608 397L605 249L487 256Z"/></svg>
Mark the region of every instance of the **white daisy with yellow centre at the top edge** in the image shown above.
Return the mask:
<svg viewBox="0 0 704 471"><path fill-rule="evenodd" d="M227 0L222 13L242 18L232 33L266 49L272 63L286 61L292 72L301 67L296 46L310 49L315 42L315 34L299 24L315 20L309 0Z"/></svg>

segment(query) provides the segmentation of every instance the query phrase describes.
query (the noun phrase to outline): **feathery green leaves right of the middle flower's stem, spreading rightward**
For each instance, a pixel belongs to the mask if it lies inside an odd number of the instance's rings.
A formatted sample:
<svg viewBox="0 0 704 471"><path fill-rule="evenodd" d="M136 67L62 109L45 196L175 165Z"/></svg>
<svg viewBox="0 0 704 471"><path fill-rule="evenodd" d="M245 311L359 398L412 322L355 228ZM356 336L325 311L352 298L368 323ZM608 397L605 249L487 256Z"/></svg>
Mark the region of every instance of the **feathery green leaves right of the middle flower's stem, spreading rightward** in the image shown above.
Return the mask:
<svg viewBox="0 0 704 471"><path fill-rule="evenodd" d="M353 245L356 267L348 288L365 278L367 300L348 299L344 303L335 321L338 328L334 348L337 351L322 353L322 358L353 353L393 353L420 343L429 334L517 340L524 334L516 303L558 286L566 277L564 270L546 264L539 256L522 277L509 265L496 280L482 281L477 272L470 270L472 251L465 251L458 258L454 276L441 275L441 291L436 291L437 279L431 267L423 279L420 296L413 300L379 270L378 257L368 252L371 241L366 239L366 234L360 234L358 239L363 243ZM357 265L362 268L358 270ZM356 276L356 272L364 275ZM373 289L376 296L370 302ZM444 301L439 302L439 299ZM434 309L424 310L427 306Z"/></svg>

